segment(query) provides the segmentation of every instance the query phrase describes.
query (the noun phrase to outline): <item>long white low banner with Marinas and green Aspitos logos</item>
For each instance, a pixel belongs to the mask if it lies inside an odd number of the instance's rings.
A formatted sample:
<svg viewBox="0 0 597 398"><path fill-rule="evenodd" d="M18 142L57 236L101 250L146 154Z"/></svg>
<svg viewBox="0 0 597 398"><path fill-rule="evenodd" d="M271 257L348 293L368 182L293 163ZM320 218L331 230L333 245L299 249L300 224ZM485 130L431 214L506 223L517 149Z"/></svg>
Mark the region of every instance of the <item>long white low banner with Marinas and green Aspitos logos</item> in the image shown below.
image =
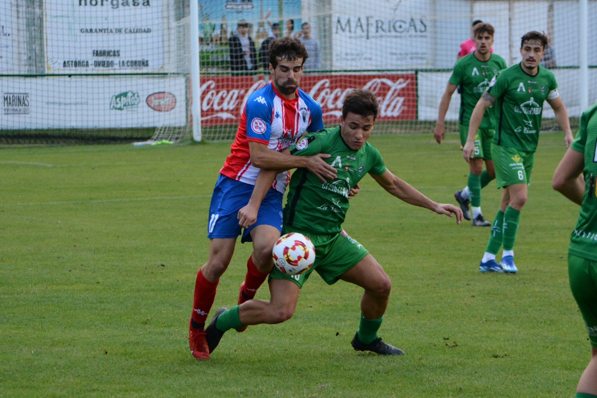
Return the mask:
<svg viewBox="0 0 597 398"><path fill-rule="evenodd" d="M0 129L186 125L183 77L0 78L0 89Z"/></svg>

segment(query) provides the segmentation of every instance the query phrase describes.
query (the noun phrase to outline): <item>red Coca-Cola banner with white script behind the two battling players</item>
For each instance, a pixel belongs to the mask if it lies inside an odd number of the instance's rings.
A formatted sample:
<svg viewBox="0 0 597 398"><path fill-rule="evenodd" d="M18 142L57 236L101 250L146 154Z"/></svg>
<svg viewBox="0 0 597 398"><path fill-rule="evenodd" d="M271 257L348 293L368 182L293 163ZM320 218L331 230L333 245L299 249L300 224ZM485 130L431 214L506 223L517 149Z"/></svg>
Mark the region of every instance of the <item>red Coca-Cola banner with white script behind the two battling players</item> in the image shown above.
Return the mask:
<svg viewBox="0 0 597 398"><path fill-rule="evenodd" d="M204 76L201 80L202 124L238 124L248 97L267 83L269 80L263 76ZM321 105L325 124L340 121L344 97L355 88L373 91L380 104L377 121L417 119L414 72L303 75L300 88Z"/></svg>

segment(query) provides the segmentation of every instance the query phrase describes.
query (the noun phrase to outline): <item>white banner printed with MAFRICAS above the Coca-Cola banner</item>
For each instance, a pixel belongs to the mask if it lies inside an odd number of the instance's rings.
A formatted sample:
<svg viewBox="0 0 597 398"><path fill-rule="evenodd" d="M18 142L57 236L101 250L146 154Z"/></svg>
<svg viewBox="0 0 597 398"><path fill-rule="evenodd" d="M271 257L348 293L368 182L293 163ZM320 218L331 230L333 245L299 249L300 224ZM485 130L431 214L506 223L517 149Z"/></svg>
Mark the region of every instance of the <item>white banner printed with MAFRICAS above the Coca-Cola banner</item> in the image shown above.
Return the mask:
<svg viewBox="0 0 597 398"><path fill-rule="evenodd" d="M333 69L429 67L433 1L333 1ZM384 49L380 51L380 49Z"/></svg>

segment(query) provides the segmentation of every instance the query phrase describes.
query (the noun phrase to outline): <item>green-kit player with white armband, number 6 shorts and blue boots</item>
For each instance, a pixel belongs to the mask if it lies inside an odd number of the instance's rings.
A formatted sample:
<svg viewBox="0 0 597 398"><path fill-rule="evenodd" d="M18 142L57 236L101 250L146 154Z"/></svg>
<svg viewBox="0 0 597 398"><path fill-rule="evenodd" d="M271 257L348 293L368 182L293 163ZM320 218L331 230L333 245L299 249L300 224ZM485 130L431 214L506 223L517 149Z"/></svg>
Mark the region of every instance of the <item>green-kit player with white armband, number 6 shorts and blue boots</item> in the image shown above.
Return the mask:
<svg viewBox="0 0 597 398"><path fill-rule="evenodd" d="M568 112L558 94L553 73L539 66L545 53L547 38L539 32L522 36L519 64L502 70L490 83L470 116L469 135L462 155L466 161L475 158L475 133L485 110L498 107L497 129L491 141L491 158L496 166L497 187L504 188L500 209L491 226L490 239L479 264L481 272L516 273L514 242L522 206L527 202L527 185L531 180L533 161L543 103L552 107L559 127L565 133L566 147L572 143ZM496 254L503 245L500 264Z"/></svg>

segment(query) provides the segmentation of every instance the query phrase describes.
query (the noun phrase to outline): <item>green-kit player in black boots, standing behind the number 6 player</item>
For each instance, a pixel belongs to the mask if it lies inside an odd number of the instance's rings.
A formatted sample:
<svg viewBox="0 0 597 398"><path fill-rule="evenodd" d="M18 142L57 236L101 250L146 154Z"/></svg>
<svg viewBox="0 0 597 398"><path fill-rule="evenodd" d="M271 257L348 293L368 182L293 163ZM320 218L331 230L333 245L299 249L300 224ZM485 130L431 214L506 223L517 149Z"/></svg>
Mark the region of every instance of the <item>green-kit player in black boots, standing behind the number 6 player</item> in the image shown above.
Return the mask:
<svg viewBox="0 0 597 398"><path fill-rule="evenodd" d="M481 94L488 87L489 82L497 72L506 68L506 61L497 54L491 54L493 45L494 28L488 23L478 23L473 28L473 40L476 50L460 58L454 66L452 76L448 81L442 100L439 103L438 121L435 125L433 137L442 143L445 135L444 118L450 106L450 98L458 86L461 87L460 115L458 127L460 128L460 143L466 144L469 132L470 115L475 108ZM481 125L475 134L475 158L469 162L469 178L467 186L454 193L454 198L460 203L464 218L471 219L469 202L472 209L472 225L488 227L491 224L485 221L481 212L481 189L496 178L493 161L491 160L491 138L496 125L494 108L487 109L483 115ZM483 169L485 161L485 170Z"/></svg>

